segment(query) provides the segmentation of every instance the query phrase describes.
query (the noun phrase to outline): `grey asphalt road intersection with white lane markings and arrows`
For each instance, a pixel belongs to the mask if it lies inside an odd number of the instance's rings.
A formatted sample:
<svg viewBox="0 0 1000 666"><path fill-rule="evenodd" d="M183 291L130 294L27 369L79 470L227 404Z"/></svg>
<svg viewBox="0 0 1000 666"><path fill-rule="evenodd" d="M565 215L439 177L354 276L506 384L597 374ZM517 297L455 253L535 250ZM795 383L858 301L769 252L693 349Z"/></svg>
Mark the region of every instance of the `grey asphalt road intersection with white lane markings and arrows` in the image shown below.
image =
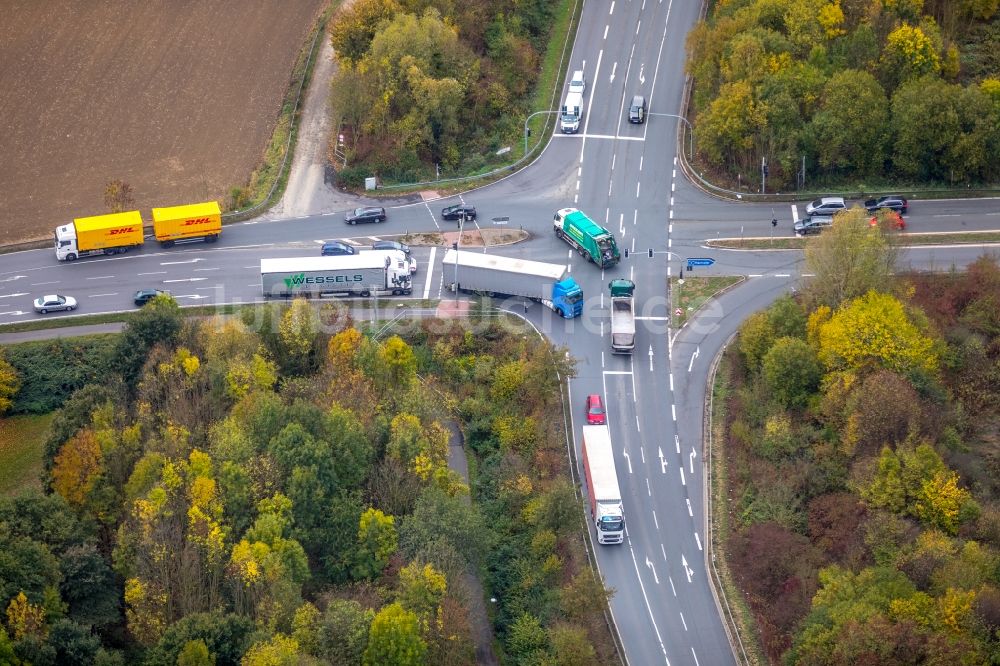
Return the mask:
<svg viewBox="0 0 1000 666"><path fill-rule="evenodd" d="M611 609L634 665L735 663L720 619L705 559L705 487L702 454L707 369L739 323L787 292L802 277L797 251L707 249L707 239L790 235L804 203L748 204L705 195L680 177L676 123L684 84L684 40L698 16L697 3L672 0L586 3L569 70L583 69L588 85L585 115L575 135L556 134L529 168L464 195L479 220L495 217L531 232L532 240L490 250L497 254L566 264L583 288L583 317L564 321L539 305L525 316L578 360L571 383L574 439L579 454L583 400L600 393L608 409L627 539L598 546ZM645 95L648 121L627 120L627 103ZM323 187L322 184L318 186ZM260 259L319 254L324 240L363 247L408 232L453 230L440 209L458 197L389 208L383 224L348 227L343 214L271 219L227 226L213 245L194 243L161 250L147 241L129 254L57 262L52 249L3 255L0 260L0 324L41 317L31 301L48 293L79 301L74 314L128 310L140 288L169 290L182 304L261 300ZM552 215L578 207L612 230L634 256L610 270L586 263L552 233ZM910 231L991 229L995 200L914 201ZM771 219L779 220L771 229ZM655 251L649 258L647 250ZM419 270L414 294L394 301L452 298L445 291L440 248L413 250ZM995 248L919 247L903 252L901 266L918 270L961 267ZM701 312L680 332L668 327L668 276L685 259L708 257L714 265L697 275L745 275L748 279ZM635 281L636 349L612 356L607 284ZM450 281L450 277L448 279ZM510 305L510 304L509 304ZM523 312L520 302L514 306ZM45 315L55 317L61 315ZM0 327L2 333L2 327Z"/></svg>

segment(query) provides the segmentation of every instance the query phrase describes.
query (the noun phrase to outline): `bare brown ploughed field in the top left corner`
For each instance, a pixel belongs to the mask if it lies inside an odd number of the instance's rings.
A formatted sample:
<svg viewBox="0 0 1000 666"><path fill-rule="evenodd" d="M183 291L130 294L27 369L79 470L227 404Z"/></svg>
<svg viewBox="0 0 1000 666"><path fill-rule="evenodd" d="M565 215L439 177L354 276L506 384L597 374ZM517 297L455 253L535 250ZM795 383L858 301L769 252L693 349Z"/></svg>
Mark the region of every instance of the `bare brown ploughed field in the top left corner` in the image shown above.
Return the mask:
<svg viewBox="0 0 1000 666"><path fill-rule="evenodd" d="M247 182L329 0L0 0L0 244Z"/></svg>

